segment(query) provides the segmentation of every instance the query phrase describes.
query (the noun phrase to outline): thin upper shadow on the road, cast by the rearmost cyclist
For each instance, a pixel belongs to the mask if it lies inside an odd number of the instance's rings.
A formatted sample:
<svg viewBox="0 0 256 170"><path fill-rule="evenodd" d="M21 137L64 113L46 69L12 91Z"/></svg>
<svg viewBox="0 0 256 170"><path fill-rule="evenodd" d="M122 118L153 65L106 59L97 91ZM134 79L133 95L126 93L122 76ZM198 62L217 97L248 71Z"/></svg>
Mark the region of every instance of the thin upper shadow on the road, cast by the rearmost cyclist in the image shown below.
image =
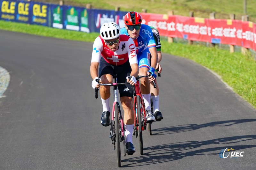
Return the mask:
<svg viewBox="0 0 256 170"><path fill-rule="evenodd" d="M170 126L165 128L152 129L152 135L166 135L166 134L172 134L172 133L187 132L187 131L196 130L200 128L206 128L206 127L232 126L234 124L255 122L255 121L256 119L240 119L240 120L210 122L210 123L204 123L204 124L186 124L186 125L179 125L179 126Z"/></svg>

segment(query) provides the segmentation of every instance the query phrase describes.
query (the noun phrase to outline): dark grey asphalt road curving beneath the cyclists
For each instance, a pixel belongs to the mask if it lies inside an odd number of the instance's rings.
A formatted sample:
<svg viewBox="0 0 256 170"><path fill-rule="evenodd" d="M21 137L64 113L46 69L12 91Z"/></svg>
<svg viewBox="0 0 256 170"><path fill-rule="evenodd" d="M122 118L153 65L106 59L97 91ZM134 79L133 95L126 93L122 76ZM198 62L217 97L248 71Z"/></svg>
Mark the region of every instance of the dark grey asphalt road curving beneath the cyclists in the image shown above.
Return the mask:
<svg viewBox="0 0 256 170"><path fill-rule="evenodd" d="M1 170L117 169L109 127L90 76L92 43L0 30L0 66L11 80L0 98ZM144 155L122 169L256 169L256 110L204 67L163 54L164 119L143 132ZM112 96L111 96L112 99ZM243 157L220 158L234 149Z"/></svg>

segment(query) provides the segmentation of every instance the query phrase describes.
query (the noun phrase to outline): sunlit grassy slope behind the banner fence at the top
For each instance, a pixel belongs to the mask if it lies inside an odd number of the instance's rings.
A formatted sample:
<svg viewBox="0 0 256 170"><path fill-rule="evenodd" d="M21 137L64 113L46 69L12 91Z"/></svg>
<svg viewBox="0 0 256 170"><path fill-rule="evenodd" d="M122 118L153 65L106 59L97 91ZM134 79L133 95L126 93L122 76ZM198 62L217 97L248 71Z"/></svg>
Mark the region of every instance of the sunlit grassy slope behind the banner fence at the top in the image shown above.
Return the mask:
<svg viewBox="0 0 256 170"><path fill-rule="evenodd" d="M34 0L58 4L59 0ZM120 11L137 11L147 9L148 13L167 14L174 11L175 15L189 16L190 11L194 11L195 17L209 18L211 12L216 12L215 17L229 19L229 14L235 14L236 19L241 20L244 13L244 0L141 0L141 1L106 1L106 0L64 0L64 4L73 6L86 6L91 4L92 8L115 10L120 7ZM256 22L255 0L247 0L247 15L249 20Z"/></svg>

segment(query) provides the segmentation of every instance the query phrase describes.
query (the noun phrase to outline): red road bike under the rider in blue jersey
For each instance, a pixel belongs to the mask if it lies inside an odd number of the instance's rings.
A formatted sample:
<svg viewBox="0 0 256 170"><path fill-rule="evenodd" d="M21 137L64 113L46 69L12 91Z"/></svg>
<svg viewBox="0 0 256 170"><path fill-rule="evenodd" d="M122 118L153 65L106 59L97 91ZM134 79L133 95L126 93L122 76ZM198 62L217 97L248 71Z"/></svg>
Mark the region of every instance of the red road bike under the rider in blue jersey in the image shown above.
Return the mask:
<svg viewBox="0 0 256 170"><path fill-rule="evenodd" d="M153 121L147 121L146 118L146 110L145 110L145 104L144 104L144 100L140 91L140 81L139 79L142 77L149 77L149 76L137 76L136 77L136 84L135 86L135 98L134 98L134 104L133 104L133 110L134 110L134 132L133 135L137 137L139 137L139 141L140 141L140 155L143 155L143 138L142 138L142 130L147 129L147 125L148 127L151 127L151 123ZM156 88L156 84L153 81L154 84L154 88ZM150 128L150 134L151 133L151 128Z"/></svg>

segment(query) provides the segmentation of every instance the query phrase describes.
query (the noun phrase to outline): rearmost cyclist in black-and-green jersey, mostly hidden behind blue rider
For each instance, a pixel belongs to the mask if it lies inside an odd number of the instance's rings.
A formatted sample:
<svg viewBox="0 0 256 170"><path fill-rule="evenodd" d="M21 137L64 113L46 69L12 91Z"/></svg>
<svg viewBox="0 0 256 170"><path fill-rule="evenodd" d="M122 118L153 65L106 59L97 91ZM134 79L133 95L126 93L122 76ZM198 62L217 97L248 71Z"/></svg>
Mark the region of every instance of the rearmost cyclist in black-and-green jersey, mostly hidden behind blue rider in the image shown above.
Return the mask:
<svg viewBox="0 0 256 170"><path fill-rule="evenodd" d="M156 69L158 69L158 73L161 73L162 67L161 67L160 61L162 60L162 53L161 53L160 35L159 35L158 30L155 27L150 26L150 28L153 32L153 36L156 41L156 51L157 51L157 55L158 55L158 62L156 65ZM158 88L156 80L155 80L155 83L156 83L156 88L154 88L154 85L152 82L150 83L150 87L151 87L150 94L151 94L151 99L153 102L153 108L154 108L153 113L156 118L156 121L161 121L164 117L159 110L159 88Z"/></svg>

